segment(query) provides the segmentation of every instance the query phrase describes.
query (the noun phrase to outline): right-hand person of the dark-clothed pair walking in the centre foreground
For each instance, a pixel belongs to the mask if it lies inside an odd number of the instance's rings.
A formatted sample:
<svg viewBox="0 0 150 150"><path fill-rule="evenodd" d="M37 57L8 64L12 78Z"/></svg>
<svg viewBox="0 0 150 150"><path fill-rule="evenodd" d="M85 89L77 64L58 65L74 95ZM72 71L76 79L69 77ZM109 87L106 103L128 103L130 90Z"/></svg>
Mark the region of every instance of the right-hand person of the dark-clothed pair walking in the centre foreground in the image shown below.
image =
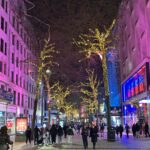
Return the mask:
<svg viewBox="0 0 150 150"><path fill-rule="evenodd" d="M93 143L93 149L96 147L97 137L98 137L98 127L93 123L90 128L91 142Z"/></svg>

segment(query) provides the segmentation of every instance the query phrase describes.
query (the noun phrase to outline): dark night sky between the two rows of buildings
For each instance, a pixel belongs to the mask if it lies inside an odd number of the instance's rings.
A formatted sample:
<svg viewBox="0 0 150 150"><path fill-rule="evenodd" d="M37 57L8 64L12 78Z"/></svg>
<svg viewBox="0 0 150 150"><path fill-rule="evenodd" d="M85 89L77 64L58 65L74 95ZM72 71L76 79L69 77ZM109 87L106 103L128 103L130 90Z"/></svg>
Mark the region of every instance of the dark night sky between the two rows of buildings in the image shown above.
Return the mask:
<svg viewBox="0 0 150 150"><path fill-rule="evenodd" d="M82 63L79 49L72 44L73 38L87 33L89 28L104 29L116 17L121 0L31 0L35 7L28 13L38 17L51 27L51 41L60 52L55 60L60 64L53 67L51 81L60 81L64 85L72 85L84 81L85 68L94 68L98 77L102 77L102 69L97 56ZM27 5L28 6L28 5ZM43 42L47 36L46 25L30 18L37 37ZM89 63L90 62L90 63ZM87 65L90 64L90 65Z"/></svg>

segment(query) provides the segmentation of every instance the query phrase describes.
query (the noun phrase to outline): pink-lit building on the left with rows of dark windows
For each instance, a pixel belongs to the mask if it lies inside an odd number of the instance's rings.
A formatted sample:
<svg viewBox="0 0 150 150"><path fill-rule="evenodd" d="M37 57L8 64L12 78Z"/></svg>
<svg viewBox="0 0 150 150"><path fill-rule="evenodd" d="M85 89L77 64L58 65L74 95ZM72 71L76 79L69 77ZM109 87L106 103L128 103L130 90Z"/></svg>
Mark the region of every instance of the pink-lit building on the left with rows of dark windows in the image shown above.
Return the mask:
<svg viewBox="0 0 150 150"><path fill-rule="evenodd" d="M0 127L15 133L16 117L31 123L35 99L36 39L22 0L0 0Z"/></svg>

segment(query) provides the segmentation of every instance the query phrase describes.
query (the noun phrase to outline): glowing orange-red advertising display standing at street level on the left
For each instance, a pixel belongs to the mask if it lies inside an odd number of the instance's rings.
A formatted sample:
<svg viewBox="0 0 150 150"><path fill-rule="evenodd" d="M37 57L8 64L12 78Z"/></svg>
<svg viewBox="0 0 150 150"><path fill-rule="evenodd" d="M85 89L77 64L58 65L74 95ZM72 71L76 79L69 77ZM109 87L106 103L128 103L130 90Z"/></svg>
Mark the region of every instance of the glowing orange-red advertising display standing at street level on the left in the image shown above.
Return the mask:
<svg viewBox="0 0 150 150"><path fill-rule="evenodd" d="M16 118L16 134L24 134L27 130L27 118Z"/></svg>

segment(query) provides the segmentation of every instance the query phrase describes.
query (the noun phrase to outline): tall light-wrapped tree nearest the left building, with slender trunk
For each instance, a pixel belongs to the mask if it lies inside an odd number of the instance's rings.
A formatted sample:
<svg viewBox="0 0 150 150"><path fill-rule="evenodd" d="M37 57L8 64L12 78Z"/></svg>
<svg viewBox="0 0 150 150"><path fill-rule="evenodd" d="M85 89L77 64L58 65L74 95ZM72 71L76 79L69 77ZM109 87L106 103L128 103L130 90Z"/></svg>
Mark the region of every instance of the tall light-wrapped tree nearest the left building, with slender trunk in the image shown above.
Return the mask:
<svg viewBox="0 0 150 150"><path fill-rule="evenodd" d="M37 104L39 99L39 86L40 82L45 78L46 82L48 82L46 77L46 69L57 64L53 60L53 55L57 51L54 49L54 44L50 43L49 40L45 40L45 45L40 52L40 56L37 60L26 60L25 63L31 64L37 67L37 80L36 80L36 90L35 90L35 100L34 100L34 110L33 110L33 117L32 117L32 131L34 132L35 121L36 121L36 111L37 111ZM49 59L50 58L50 59ZM49 59L49 60L47 60ZM47 84L48 86L48 84ZM49 89L49 86L47 87ZM48 90L48 95L50 91Z"/></svg>

